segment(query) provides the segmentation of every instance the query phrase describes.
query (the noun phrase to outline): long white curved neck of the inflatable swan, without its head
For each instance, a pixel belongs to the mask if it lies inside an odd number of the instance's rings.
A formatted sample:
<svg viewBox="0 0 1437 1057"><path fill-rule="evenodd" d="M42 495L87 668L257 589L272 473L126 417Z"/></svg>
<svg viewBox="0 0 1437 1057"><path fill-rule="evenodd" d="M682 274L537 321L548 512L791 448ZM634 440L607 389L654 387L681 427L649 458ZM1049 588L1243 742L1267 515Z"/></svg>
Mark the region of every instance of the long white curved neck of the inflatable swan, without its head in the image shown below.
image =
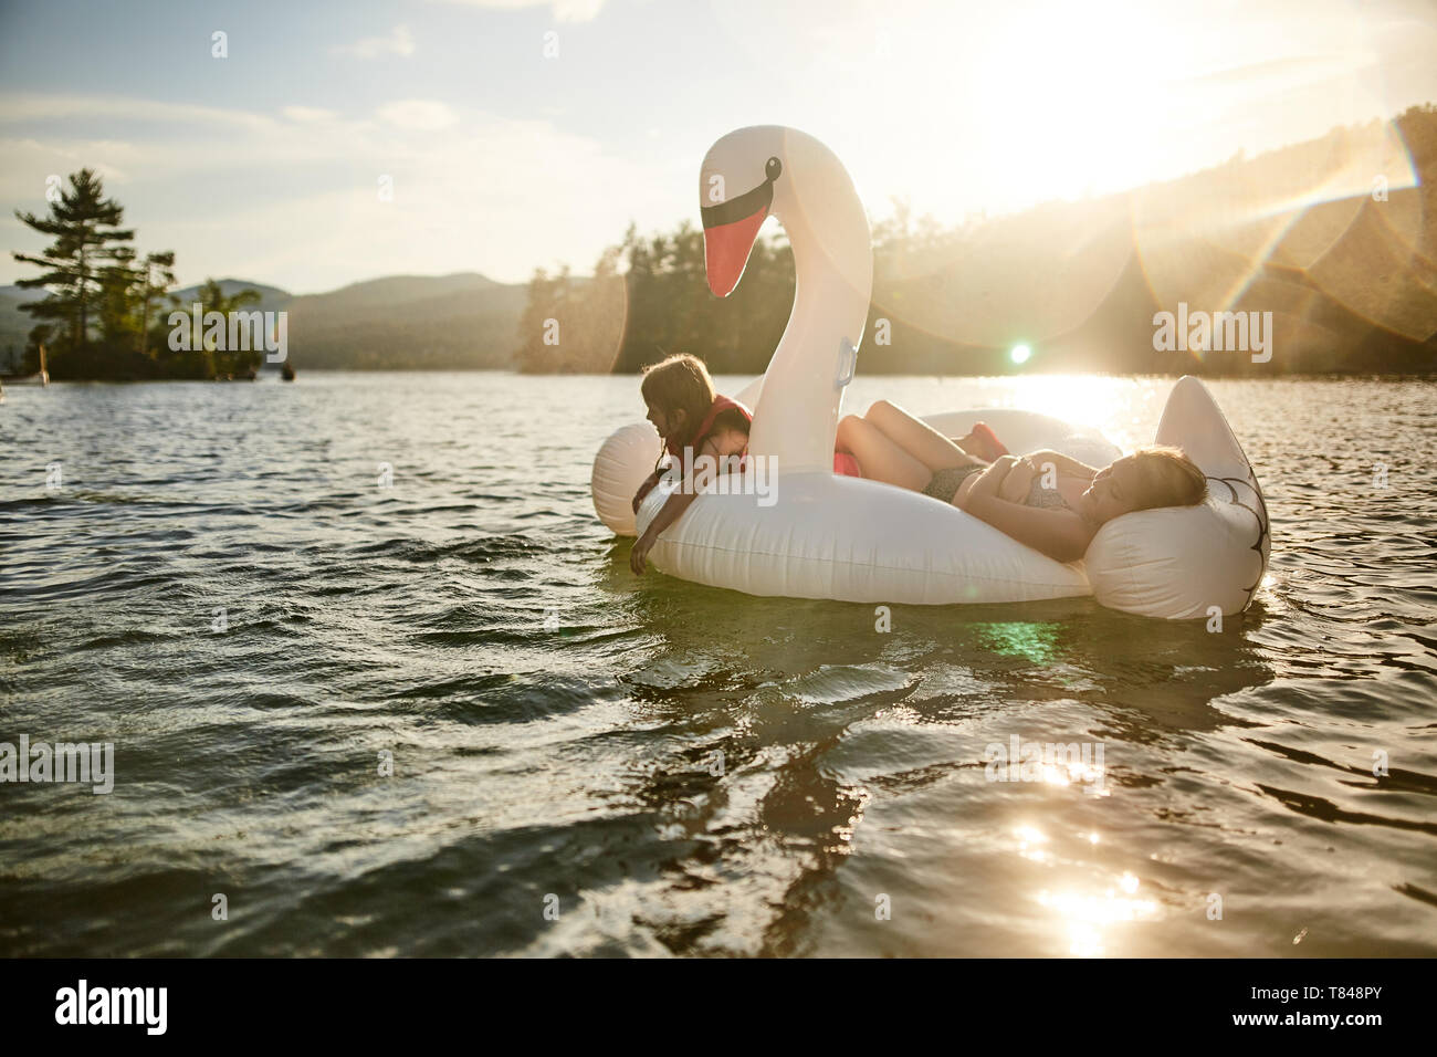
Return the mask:
<svg viewBox="0 0 1437 1057"><path fill-rule="evenodd" d="M833 469L844 347L862 341L874 286L868 217L838 160L799 190L808 193L775 209L793 247L796 286L749 437L749 452L773 456L780 473Z"/></svg>

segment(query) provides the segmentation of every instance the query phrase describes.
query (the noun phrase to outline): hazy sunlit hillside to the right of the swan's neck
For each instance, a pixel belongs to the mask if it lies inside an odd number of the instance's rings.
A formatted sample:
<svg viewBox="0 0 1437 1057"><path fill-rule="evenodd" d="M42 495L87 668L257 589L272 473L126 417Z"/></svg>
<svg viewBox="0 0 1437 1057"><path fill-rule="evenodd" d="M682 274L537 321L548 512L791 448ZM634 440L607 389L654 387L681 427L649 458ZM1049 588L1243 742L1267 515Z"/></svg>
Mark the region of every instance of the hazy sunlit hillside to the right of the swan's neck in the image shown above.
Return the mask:
<svg viewBox="0 0 1437 1057"><path fill-rule="evenodd" d="M867 368L997 374L1022 341L1026 372L1431 371L1437 108L1395 125L879 247L872 315L892 344ZM1273 362L1158 349L1155 315L1188 308L1259 314Z"/></svg>

